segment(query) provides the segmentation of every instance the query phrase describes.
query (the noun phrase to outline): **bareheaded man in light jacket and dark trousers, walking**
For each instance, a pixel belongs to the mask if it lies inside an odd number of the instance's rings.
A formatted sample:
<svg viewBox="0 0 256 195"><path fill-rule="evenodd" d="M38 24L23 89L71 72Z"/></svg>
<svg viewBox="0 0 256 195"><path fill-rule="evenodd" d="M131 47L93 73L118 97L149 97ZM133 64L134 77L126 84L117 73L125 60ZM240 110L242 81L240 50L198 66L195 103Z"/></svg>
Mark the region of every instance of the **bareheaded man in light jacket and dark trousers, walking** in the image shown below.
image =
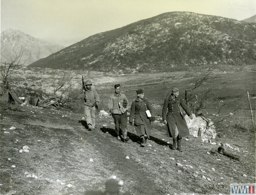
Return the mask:
<svg viewBox="0 0 256 195"><path fill-rule="evenodd" d="M120 93L120 84L116 84L114 88L115 92L112 93L108 99L108 110L114 118L117 139L121 140L122 138L124 142L127 142L129 140L129 137L127 136L128 99L126 98L126 95Z"/></svg>

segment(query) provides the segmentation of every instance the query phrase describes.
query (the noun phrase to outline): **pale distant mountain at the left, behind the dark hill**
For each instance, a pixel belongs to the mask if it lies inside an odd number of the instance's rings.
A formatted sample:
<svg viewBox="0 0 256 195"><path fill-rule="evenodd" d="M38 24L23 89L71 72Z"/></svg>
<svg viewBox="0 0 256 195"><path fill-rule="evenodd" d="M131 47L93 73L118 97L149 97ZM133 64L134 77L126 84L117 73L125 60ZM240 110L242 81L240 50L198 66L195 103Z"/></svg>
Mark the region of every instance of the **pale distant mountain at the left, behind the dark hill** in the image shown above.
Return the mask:
<svg viewBox="0 0 256 195"><path fill-rule="evenodd" d="M24 49L22 63L30 65L65 47L32 37L21 30L7 29L1 33L1 62L10 62L11 57L15 57L14 52L19 53L21 48Z"/></svg>

